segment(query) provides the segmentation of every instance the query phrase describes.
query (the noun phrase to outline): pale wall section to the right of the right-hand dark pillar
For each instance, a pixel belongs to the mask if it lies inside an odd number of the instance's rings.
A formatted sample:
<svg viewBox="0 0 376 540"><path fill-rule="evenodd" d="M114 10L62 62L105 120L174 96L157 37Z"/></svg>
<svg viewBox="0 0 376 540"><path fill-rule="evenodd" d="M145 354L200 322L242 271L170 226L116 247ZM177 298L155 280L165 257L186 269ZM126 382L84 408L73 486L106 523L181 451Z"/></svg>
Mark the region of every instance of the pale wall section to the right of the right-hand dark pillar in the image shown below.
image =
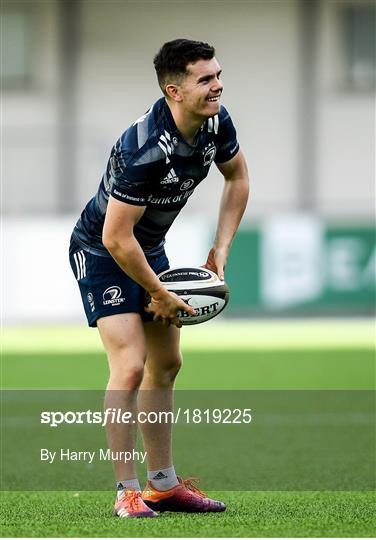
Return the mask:
<svg viewBox="0 0 376 540"><path fill-rule="evenodd" d="M369 4L358 0L358 5ZM375 95L346 86L341 15L349 0L322 2L317 88L317 180L321 212L372 219L375 213Z"/></svg>

